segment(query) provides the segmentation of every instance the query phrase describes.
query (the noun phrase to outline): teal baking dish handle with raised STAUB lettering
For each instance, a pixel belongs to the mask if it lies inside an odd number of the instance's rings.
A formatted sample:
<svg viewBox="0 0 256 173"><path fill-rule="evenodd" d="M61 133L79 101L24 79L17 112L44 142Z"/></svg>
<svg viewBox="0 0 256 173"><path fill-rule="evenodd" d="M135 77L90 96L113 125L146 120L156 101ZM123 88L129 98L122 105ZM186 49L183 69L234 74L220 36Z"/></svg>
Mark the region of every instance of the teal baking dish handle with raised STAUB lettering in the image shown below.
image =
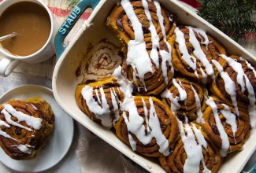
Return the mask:
<svg viewBox="0 0 256 173"><path fill-rule="evenodd" d="M71 11L69 16L66 18L64 23L61 25L61 28L58 29L58 32L54 39L54 48L56 51L57 60L61 57L61 54L66 49L64 45L64 39L69 34L69 31L72 30L73 26L76 24L76 21L83 14L85 9L92 8L98 5L100 0L81 0Z"/></svg>

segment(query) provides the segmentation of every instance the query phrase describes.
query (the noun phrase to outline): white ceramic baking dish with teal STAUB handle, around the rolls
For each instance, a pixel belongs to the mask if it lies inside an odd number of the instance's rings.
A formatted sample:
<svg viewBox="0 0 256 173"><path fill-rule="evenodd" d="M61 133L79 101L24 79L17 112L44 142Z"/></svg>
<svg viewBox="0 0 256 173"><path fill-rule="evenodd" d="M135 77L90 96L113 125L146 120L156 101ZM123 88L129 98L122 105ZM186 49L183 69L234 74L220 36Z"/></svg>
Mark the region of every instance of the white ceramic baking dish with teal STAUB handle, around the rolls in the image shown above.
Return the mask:
<svg viewBox="0 0 256 173"><path fill-rule="evenodd" d="M98 0L99 1L99 0ZM58 35L55 38L55 48L58 56L58 62L54 69L53 75L53 92L54 97L58 101L58 104L62 109L65 110L73 119L81 123L84 127L87 127L90 131L97 134L100 138L113 145L121 153L128 156L135 163L144 167L150 172L165 172L158 163L148 160L143 156L139 156L132 151L127 145L124 145L112 131L106 130L98 123L94 123L87 116L80 111L76 105L75 90L78 83L81 82L80 78L76 77L76 69L80 65L80 61L84 57L87 51L88 43L96 44L101 39L109 39L115 44L119 44L116 35L112 31L106 28L106 19L116 6L117 0L101 0L88 1L83 0L78 6L76 6L61 26ZM169 9L169 12L175 13L181 24L191 25L196 28L202 28L206 30L209 35L217 39L226 48L228 54L236 54L246 58L250 63L256 65L256 58L245 50L242 46L239 46L236 42L230 39L227 35L224 35L213 25L198 17L195 13L191 12L185 6L180 4L176 0L159 0L161 6L165 9ZM98 3L98 6L95 6ZM63 40L69 33L73 24L75 24L77 18L80 16L82 11L88 6L91 6L94 11L91 17L87 20L76 37L69 43L69 46L63 46ZM244 144L244 149L239 153L229 155L221 166L220 172L240 172L244 165L249 160L250 156L256 149L256 130L255 128L251 131L250 138Z"/></svg>

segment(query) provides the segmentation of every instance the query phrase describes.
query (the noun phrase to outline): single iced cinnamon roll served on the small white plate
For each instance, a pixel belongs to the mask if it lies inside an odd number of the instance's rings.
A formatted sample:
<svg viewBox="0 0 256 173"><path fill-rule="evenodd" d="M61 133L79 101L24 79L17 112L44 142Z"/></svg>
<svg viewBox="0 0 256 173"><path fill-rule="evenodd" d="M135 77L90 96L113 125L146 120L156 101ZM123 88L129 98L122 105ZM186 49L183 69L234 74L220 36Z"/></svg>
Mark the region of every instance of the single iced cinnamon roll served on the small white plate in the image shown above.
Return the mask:
<svg viewBox="0 0 256 173"><path fill-rule="evenodd" d="M39 98L0 105L0 145L14 160L31 160L54 130L54 112Z"/></svg>

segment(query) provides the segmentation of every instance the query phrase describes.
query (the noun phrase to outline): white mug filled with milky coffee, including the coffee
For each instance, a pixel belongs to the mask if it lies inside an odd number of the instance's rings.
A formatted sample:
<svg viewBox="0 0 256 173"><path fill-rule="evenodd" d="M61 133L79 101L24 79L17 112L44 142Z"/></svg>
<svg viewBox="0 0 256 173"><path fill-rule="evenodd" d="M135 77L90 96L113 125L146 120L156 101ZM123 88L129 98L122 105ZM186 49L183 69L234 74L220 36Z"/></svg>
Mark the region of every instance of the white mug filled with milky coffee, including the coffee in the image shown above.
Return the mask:
<svg viewBox="0 0 256 173"><path fill-rule="evenodd" d="M0 3L0 37L16 32L0 42L0 75L7 76L20 61L39 63L53 57L54 17L39 0L4 0Z"/></svg>

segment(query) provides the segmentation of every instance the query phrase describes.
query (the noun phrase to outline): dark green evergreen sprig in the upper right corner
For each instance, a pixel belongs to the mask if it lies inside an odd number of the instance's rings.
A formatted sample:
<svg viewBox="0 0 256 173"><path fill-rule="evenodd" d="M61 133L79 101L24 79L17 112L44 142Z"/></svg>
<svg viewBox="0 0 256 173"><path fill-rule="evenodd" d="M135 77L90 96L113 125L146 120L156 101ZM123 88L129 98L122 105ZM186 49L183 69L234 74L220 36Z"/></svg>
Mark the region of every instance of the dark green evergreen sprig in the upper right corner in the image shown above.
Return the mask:
<svg viewBox="0 0 256 173"><path fill-rule="evenodd" d="M255 0L198 0L198 15L235 39L256 32Z"/></svg>

